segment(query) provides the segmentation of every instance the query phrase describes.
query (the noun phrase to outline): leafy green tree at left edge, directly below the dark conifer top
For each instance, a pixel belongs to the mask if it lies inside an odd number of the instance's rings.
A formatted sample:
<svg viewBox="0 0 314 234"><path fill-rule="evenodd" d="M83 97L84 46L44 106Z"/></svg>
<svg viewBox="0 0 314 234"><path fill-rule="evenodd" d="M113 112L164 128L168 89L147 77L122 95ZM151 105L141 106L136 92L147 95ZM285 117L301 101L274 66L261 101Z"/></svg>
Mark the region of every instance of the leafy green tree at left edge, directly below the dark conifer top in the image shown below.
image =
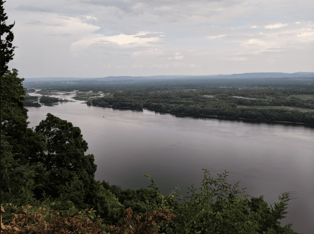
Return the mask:
<svg viewBox="0 0 314 234"><path fill-rule="evenodd" d="M43 154L45 143L40 134L28 128L28 110L24 108L25 88L18 77L18 70L6 71L1 79L1 134L9 136L8 143L13 146L14 159L20 164L38 162Z"/></svg>

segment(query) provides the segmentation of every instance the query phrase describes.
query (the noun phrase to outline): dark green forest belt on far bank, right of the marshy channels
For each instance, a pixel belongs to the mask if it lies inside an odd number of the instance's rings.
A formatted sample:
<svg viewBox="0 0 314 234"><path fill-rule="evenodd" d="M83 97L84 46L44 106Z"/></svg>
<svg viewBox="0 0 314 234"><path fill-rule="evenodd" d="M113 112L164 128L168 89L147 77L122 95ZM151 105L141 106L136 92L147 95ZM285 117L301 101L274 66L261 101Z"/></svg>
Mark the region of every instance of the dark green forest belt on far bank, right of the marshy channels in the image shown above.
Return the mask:
<svg viewBox="0 0 314 234"><path fill-rule="evenodd" d="M290 123L304 123L313 125L314 112L287 109L270 109L265 106L295 106L314 109L314 100L303 101L300 98L282 96L275 92L165 92L165 93L114 93L113 97L93 99L90 104L112 108L129 108L141 110L143 108L170 114L185 114L189 116L221 116L232 119L248 119L254 121L279 121ZM266 94L274 95L266 99ZM250 95L259 99L235 98L233 95ZM260 94L260 95L259 95ZM203 95L215 95L205 97ZM241 105L241 107L238 107ZM243 107L247 106L247 107Z"/></svg>

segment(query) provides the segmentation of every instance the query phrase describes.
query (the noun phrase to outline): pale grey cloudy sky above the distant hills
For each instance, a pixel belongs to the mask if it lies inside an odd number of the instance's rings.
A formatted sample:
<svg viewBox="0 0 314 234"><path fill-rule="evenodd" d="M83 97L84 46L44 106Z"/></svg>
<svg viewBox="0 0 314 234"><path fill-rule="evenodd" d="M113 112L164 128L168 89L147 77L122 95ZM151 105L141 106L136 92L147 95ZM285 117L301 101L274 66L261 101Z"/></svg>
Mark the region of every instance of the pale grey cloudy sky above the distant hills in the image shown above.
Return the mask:
<svg viewBox="0 0 314 234"><path fill-rule="evenodd" d="M19 77L314 72L313 0L7 0Z"/></svg>

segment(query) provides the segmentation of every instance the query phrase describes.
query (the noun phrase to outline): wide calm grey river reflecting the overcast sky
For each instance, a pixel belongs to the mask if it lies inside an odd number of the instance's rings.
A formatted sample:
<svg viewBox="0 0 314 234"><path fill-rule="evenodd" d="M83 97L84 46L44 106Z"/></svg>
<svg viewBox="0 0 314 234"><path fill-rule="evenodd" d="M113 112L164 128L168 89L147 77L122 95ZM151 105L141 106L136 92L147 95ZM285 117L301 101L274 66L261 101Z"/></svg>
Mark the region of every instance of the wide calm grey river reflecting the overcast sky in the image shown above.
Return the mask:
<svg viewBox="0 0 314 234"><path fill-rule="evenodd" d="M53 97L73 100L74 95ZM240 180L237 189L246 188L253 197L263 194L269 206L279 203L280 194L292 192L296 199L288 201L281 225L292 223L298 233L314 233L313 128L113 110L83 102L26 107L28 121L35 127L51 113L79 127L89 146L86 154L95 157L96 180L139 189L150 184L144 176L149 174L163 195L179 184L179 193L188 196L191 183L201 187L202 169L214 179L226 170L228 183Z"/></svg>

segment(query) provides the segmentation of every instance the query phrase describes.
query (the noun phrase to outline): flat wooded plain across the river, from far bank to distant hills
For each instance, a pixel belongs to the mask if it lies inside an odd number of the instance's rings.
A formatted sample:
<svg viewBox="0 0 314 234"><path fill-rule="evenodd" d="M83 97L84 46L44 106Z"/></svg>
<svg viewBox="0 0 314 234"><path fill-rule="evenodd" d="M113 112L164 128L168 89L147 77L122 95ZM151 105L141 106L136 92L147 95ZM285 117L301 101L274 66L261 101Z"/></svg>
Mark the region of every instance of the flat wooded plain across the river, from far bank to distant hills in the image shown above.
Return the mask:
<svg viewBox="0 0 314 234"><path fill-rule="evenodd" d="M314 77L147 79L101 78L26 82L38 93L76 91L75 100L114 109L148 109L182 116L256 123L314 125ZM84 92L84 93L83 93ZM178 114L181 113L181 114Z"/></svg>

